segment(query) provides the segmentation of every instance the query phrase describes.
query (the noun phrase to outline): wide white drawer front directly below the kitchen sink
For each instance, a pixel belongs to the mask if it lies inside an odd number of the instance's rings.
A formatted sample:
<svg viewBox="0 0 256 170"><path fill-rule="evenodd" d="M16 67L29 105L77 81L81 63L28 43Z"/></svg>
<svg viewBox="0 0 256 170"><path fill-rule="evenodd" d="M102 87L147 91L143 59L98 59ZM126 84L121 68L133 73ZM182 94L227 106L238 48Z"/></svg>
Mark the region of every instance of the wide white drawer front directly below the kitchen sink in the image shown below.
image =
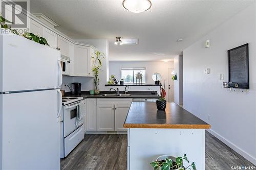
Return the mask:
<svg viewBox="0 0 256 170"><path fill-rule="evenodd" d="M133 99L130 98L122 98L122 99L113 99L113 98L106 98L106 99L97 99L97 105L131 105Z"/></svg>

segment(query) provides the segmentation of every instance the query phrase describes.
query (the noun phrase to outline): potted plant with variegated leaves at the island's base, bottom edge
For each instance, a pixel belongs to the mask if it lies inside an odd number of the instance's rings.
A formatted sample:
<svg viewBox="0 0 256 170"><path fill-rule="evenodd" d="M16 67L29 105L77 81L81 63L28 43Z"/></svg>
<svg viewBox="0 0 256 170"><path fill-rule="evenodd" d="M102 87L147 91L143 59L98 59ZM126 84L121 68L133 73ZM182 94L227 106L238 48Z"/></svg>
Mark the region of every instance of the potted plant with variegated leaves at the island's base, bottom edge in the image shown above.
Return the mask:
<svg viewBox="0 0 256 170"><path fill-rule="evenodd" d="M193 169L196 170L195 162L192 162L187 167L183 165L183 161L186 160L188 163L188 159L186 154L182 157L175 158L173 156L162 155L157 158L156 161L151 162L150 164L154 167L155 170L169 170L169 169L176 169L176 170L185 170L185 169ZM191 168L190 168L191 167Z"/></svg>

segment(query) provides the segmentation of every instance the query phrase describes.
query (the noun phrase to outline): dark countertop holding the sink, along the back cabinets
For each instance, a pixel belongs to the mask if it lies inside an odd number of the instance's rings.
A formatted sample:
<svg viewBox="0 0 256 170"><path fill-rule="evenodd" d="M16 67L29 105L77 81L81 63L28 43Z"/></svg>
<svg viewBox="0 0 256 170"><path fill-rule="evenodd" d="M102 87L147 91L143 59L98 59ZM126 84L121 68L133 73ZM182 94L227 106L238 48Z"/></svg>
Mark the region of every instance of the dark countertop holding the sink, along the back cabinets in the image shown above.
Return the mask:
<svg viewBox="0 0 256 170"><path fill-rule="evenodd" d="M102 91L100 92L100 94L89 94L88 91L83 91L81 94L79 95L74 95L71 93L65 93L65 97L83 97L83 99L86 98L147 98L147 99L156 99L159 98L158 94L151 94L151 91L130 91L127 94L132 94L130 96L102 96L102 94L113 94L113 92L109 92L109 91ZM119 92L120 94L123 94L123 91Z"/></svg>

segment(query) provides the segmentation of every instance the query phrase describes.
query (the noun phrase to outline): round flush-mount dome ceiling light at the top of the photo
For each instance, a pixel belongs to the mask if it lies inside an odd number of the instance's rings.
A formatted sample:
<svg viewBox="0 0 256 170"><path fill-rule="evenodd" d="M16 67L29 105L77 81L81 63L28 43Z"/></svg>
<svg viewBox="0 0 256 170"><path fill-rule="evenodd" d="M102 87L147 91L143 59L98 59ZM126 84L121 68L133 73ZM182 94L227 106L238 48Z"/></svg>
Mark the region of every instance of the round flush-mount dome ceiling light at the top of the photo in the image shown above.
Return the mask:
<svg viewBox="0 0 256 170"><path fill-rule="evenodd" d="M123 0L123 7L131 12L140 13L150 9L150 0Z"/></svg>

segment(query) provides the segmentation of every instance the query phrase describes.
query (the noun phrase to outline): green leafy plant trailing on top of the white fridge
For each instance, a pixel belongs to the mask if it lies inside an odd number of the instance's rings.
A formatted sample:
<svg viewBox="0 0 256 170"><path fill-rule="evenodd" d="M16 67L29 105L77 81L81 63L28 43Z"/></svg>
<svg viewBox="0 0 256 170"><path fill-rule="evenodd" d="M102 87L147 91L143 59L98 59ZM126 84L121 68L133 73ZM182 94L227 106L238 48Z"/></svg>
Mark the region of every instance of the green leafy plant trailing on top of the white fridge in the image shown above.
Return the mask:
<svg viewBox="0 0 256 170"><path fill-rule="evenodd" d="M15 29L11 29L11 27L7 25L7 23L13 23L13 22L2 17L1 14L0 14L0 23L1 23L1 28L5 29L5 30L9 30L13 34L19 35L19 33ZM24 33L22 36L24 36L25 38L30 39L32 41L35 41L39 44L50 46L45 38L39 37L33 33Z"/></svg>

